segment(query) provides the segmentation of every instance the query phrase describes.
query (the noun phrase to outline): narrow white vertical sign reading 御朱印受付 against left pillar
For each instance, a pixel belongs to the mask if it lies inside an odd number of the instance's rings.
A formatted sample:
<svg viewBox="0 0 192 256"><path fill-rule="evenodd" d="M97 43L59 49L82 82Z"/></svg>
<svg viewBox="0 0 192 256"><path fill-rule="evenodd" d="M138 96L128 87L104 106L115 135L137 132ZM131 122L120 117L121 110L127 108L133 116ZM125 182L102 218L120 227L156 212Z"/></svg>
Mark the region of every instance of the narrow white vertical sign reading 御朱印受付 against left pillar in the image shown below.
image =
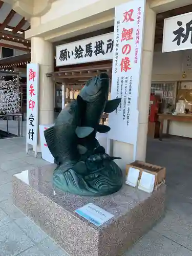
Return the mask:
<svg viewBox="0 0 192 256"><path fill-rule="evenodd" d="M33 146L35 157L37 156L38 138L38 93L39 93L39 65L27 64L27 134L26 151L29 144Z"/></svg>

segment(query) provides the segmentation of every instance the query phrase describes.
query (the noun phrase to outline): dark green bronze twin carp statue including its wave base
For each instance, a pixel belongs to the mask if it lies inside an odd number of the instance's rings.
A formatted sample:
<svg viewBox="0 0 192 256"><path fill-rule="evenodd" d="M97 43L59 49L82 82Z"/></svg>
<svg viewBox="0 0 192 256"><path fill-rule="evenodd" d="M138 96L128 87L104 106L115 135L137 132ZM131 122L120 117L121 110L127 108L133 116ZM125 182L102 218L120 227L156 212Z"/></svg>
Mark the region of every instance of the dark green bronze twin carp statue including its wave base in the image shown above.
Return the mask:
<svg viewBox="0 0 192 256"><path fill-rule="evenodd" d="M123 175L96 139L110 127L101 125L105 113L115 111L120 99L108 101L109 76L100 73L90 79L58 115L55 125L44 132L57 164L53 184L62 191L80 196L105 196L118 191Z"/></svg>

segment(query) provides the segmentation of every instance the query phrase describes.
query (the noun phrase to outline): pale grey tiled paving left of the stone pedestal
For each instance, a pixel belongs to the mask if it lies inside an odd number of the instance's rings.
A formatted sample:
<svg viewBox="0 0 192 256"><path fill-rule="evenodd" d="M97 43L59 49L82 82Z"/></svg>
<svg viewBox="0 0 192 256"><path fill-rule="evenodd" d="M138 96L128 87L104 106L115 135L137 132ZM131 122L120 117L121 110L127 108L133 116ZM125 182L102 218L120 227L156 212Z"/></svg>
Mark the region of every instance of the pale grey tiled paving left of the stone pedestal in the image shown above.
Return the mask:
<svg viewBox="0 0 192 256"><path fill-rule="evenodd" d="M6 130L5 122L0 121L0 129ZM16 132L14 121L10 121L9 131ZM0 140L0 256L67 255L12 204L13 174L46 164L26 155L24 137Z"/></svg>

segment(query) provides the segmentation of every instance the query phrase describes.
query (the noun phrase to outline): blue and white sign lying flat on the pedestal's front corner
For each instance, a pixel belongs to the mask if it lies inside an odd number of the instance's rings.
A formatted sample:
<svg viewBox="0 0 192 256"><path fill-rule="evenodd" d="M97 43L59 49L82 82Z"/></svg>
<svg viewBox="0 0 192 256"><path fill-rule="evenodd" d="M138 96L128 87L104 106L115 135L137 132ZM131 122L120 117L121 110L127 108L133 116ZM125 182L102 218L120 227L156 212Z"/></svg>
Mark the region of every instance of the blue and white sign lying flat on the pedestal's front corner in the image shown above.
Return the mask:
<svg viewBox="0 0 192 256"><path fill-rule="evenodd" d="M75 212L96 226L100 226L114 217L114 215L110 214L108 211L92 203L84 205L75 210Z"/></svg>

